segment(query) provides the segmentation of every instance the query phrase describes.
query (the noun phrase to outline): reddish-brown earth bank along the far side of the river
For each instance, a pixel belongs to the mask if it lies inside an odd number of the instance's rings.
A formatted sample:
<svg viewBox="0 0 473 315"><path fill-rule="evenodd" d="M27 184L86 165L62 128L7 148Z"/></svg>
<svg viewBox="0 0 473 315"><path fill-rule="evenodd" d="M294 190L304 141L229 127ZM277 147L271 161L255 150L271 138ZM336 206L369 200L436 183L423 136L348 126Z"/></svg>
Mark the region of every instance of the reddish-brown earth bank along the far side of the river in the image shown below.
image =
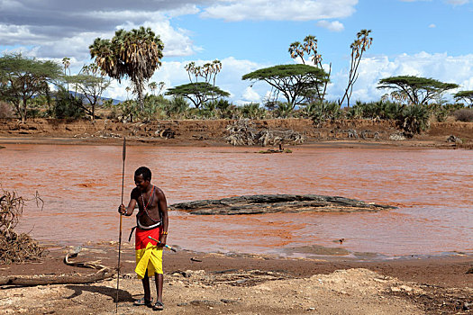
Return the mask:
<svg viewBox="0 0 473 315"><path fill-rule="evenodd" d="M110 120L31 119L25 123L0 119L1 143L118 144L126 136L131 144L168 146L229 146L231 120L151 121L122 123ZM473 122L432 122L430 130L405 138L395 121L327 121L320 126L308 119L254 120L257 130L294 130L307 144L323 141L390 144L407 147L473 148ZM448 140L454 136L457 142Z"/></svg>

